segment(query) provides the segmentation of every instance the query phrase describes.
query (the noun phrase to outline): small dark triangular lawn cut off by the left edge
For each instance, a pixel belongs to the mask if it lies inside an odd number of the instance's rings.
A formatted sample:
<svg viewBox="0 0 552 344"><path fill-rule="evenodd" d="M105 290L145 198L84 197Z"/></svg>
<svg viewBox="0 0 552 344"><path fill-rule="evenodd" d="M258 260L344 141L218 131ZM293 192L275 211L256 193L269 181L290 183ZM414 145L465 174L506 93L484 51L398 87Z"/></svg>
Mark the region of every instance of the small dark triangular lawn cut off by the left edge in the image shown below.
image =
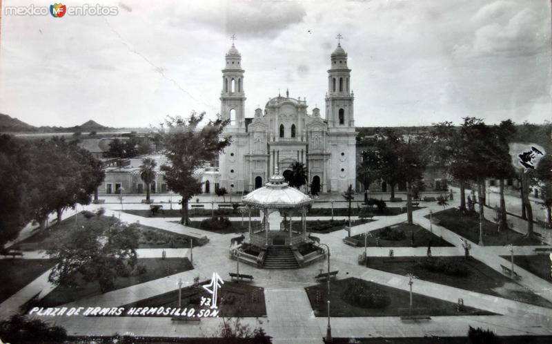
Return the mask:
<svg viewBox="0 0 552 344"><path fill-rule="evenodd" d="M49 259L1 259L0 303L53 266Z"/></svg>

